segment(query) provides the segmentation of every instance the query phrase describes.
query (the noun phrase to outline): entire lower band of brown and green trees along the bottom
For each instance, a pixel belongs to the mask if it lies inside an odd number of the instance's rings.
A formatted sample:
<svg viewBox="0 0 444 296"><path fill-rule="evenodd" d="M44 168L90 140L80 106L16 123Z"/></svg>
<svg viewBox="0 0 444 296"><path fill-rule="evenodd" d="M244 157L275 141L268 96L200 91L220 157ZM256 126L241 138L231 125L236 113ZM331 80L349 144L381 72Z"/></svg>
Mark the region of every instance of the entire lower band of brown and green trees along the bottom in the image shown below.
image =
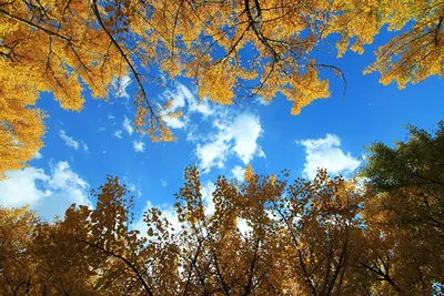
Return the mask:
<svg viewBox="0 0 444 296"><path fill-rule="evenodd" d="M245 182L220 176L209 198L185 169L179 227L159 208L132 226L117 177L47 223L0 208L4 295L437 295L444 283L443 125L411 127L391 149L371 147L362 178L290 173ZM421 152L421 153L420 153Z"/></svg>

